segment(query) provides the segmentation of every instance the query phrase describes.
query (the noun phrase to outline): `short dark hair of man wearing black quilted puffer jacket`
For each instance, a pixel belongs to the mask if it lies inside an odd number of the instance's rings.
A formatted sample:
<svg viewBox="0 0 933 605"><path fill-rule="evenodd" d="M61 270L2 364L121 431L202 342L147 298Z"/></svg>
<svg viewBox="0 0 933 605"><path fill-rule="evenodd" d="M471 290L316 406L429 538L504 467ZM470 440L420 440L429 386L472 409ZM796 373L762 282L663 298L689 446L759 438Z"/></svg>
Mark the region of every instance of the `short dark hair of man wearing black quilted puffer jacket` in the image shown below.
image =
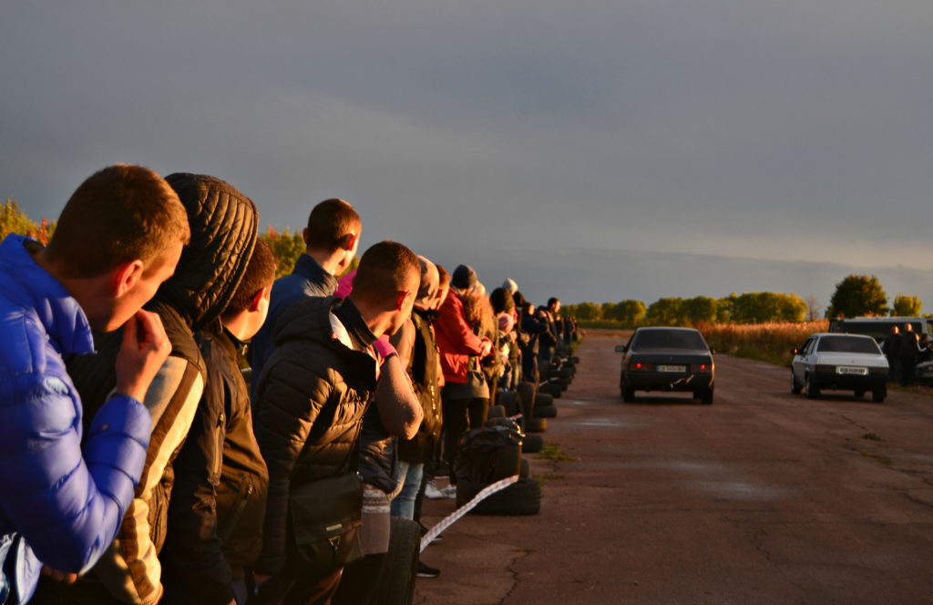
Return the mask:
<svg viewBox="0 0 933 605"><path fill-rule="evenodd" d="M378 303L399 290L411 289L413 295L420 281L421 265L414 252L396 242L380 242L369 246L359 260L350 297Z"/></svg>

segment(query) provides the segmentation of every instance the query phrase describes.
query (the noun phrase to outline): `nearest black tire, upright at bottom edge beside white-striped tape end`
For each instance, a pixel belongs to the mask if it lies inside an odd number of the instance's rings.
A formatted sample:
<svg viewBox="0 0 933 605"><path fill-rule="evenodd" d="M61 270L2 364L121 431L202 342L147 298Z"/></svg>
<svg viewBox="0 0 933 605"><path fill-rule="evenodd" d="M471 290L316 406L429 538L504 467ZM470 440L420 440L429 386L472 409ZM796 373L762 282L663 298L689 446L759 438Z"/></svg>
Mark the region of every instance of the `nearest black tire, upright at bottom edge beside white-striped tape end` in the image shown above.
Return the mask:
<svg viewBox="0 0 933 605"><path fill-rule="evenodd" d="M391 517L389 522L389 552L370 602L376 605L411 605L421 551L421 526L399 517Z"/></svg>

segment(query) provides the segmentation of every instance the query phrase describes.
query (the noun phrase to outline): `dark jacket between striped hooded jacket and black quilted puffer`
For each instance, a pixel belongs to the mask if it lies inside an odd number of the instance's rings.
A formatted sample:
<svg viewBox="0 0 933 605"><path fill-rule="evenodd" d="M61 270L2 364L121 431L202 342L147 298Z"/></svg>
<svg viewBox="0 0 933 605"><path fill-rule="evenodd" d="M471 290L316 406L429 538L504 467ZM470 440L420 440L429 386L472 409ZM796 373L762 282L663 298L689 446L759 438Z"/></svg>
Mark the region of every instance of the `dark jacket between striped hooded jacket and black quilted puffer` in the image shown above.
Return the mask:
<svg viewBox="0 0 933 605"><path fill-rule="evenodd" d="M174 461L162 561L164 602L226 605L259 556L269 474L253 434L239 352L227 331L199 331L207 386ZM231 572L234 568L238 575Z"/></svg>

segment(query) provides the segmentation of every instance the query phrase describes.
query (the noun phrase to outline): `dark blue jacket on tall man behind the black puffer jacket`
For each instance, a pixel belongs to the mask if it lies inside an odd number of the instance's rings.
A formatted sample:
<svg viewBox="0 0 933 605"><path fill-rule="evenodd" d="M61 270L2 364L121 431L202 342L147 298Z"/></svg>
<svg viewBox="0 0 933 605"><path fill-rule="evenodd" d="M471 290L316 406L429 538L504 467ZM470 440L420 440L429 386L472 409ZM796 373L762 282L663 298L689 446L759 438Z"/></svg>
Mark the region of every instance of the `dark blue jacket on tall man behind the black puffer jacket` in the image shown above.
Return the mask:
<svg viewBox="0 0 933 605"><path fill-rule="evenodd" d="M285 313L285 309L292 303L311 296L330 296L337 289L337 278L328 274L317 260L307 254L302 254L295 268L290 274L279 277L272 284L272 294L269 302L269 315L266 321L252 340L253 385L255 395L259 374L266 361L272 357L275 350L275 322Z"/></svg>

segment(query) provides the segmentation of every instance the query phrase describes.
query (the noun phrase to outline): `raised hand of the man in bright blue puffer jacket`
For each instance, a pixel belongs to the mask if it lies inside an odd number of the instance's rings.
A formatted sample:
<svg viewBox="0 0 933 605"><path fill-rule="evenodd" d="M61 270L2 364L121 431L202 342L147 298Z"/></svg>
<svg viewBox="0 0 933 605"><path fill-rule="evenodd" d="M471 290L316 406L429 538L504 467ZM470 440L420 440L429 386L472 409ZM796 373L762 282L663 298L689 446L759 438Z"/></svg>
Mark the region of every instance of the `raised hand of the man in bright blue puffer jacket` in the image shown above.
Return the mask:
<svg viewBox="0 0 933 605"><path fill-rule="evenodd" d="M136 401L146 399L146 390L172 352L162 320L140 309L123 324L123 344L117 355L117 392Z"/></svg>

